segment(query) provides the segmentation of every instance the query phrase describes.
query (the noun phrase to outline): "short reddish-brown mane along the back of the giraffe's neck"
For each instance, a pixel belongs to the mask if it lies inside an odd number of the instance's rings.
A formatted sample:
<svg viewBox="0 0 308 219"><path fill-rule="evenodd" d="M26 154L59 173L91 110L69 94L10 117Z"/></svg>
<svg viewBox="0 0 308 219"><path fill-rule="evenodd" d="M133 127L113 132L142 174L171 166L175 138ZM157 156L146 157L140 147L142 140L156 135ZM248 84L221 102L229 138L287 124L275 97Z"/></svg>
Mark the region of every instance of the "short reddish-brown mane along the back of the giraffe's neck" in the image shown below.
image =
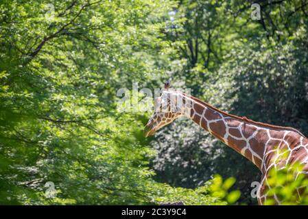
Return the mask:
<svg viewBox="0 0 308 219"><path fill-rule="evenodd" d="M254 121L254 120L250 120L250 119L246 118L246 116L241 117L241 116L235 116L233 114L228 114L228 113L226 113L226 112L224 112L222 110L217 109L216 107L213 107L213 105L210 105L209 103L205 103L204 101L202 101L202 100L200 100L200 99L198 99L198 98L196 98L194 96L189 96L189 95L185 94L184 92L182 92L182 94L184 96L187 96L190 99L193 99L194 101L200 103L201 105L205 105L206 107L209 107L212 110L215 110L217 112L220 112L221 114L224 114L225 116L230 116L231 118L235 118L237 120L246 121L246 122L252 123L254 125L259 125L259 126L263 126L263 127L269 127L269 128L272 128L272 129L295 131L296 133L300 134L300 136L305 137L303 135L303 133L301 133L300 131L298 131L297 129L294 129L292 127L283 127L283 126L279 126L279 125L270 125L268 123L261 123L261 122L257 122L257 121Z"/></svg>

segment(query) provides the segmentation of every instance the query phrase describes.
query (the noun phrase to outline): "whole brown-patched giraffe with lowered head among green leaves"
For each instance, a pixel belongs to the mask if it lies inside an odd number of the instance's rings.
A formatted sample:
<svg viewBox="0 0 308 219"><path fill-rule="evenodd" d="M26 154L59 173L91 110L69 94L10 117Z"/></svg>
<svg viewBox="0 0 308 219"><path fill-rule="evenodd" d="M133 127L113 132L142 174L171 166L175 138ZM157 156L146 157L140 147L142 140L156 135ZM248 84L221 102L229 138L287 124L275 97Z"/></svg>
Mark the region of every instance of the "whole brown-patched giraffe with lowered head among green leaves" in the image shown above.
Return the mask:
<svg viewBox="0 0 308 219"><path fill-rule="evenodd" d="M266 201L266 189L270 187L267 177L272 168L281 169L296 162L303 165L301 172L308 176L308 139L300 131L228 114L184 92L169 90L169 86L170 83L166 82L161 96L155 99L155 112L145 126L145 137L153 136L155 131L176 118L187 116L259 168L259 205ZM284 154L287 157L283 158ZM274 200L276 204L281 204L275 194Z"/></svg>

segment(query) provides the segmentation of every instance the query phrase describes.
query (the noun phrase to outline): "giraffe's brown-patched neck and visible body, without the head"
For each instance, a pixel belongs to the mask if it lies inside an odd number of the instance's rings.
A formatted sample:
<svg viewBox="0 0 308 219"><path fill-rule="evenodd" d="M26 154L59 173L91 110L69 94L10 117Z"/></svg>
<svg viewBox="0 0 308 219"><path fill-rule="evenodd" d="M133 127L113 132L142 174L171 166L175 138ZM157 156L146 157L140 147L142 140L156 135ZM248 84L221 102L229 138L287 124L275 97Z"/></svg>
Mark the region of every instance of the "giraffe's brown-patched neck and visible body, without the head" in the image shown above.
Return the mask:
<svg viewBox="0 0 308 219"><path fill-rule="evenodd" d="M308 174L308 138L298 130L230 115L187 94L183 94L183 102L185 116L244 155L261 170L261 183L257 191L259 204L267 198L265 192L270 188L267 176L271 168L285 168L299 162L303 165L302 172ZM280 203L276 195L274 199Z"/></svg>

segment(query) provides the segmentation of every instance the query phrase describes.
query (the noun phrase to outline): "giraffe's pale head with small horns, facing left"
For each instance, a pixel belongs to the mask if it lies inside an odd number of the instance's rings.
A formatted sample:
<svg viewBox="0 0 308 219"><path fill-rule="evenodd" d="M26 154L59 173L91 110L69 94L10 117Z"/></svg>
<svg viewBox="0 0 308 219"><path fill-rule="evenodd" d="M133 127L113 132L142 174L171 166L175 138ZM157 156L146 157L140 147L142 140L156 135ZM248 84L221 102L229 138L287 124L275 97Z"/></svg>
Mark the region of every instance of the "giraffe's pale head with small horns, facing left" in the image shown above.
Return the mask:
<svg viewBox="0 0 308 219"><path fill-rule="evenodd" d="M165 90L154 101L154 113L144 129L144 136L153 136L155 131L173 122L187 113L182 92L169 90L170 83L165 83Z"/></svg>

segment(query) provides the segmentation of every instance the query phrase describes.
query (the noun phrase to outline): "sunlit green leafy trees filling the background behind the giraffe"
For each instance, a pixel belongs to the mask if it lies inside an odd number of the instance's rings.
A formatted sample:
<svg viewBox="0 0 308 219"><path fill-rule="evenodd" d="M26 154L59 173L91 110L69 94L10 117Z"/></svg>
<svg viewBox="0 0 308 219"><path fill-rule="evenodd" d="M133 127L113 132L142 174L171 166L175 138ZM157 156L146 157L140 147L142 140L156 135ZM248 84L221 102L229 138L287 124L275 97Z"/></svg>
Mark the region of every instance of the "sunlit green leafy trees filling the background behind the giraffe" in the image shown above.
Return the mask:
<svg viewBox="0 0 308 219"><path fill-rule="evenodd" d="M117 91L171 79L307 136L307 24L306 0L1 0L0 204L256 205L245 157L189 120L143 138Z"/></svg>

